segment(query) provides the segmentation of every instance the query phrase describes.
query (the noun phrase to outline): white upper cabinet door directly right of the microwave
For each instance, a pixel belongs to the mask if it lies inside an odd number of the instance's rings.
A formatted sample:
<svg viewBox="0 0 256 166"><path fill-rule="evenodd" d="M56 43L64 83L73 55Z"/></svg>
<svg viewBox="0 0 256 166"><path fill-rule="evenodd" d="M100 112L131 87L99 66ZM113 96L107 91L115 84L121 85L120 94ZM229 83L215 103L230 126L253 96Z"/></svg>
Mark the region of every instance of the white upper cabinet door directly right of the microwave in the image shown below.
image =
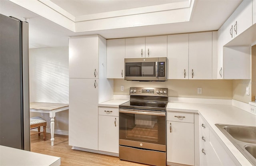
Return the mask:
<svg viewBox="0 0 256 166"><path fill-rule="evenodd" d="M168 35L168 79L188 79L188 34Z"/></svg>

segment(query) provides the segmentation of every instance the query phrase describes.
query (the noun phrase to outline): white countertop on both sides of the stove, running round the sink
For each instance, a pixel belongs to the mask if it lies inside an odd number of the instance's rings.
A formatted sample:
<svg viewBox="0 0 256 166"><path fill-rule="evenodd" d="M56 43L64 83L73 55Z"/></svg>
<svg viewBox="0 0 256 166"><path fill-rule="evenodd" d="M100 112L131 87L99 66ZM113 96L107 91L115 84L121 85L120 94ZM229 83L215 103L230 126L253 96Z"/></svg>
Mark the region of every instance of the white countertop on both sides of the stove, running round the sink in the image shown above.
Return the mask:
<svg viewBox="0 0 256 166"><path fill-rule="evenodd" d="M110 100L100 103L99 106L118 107L128 100ZM220 137L222 142L240 162L242 166L252 166L244 155L228 140L228 138L215 126L215 124L234 124L244 126L256 126L256 116L232 105L211 105L193 103L168 103L167 111L180 111L199 113L209 124L210 127Z"/></svg>

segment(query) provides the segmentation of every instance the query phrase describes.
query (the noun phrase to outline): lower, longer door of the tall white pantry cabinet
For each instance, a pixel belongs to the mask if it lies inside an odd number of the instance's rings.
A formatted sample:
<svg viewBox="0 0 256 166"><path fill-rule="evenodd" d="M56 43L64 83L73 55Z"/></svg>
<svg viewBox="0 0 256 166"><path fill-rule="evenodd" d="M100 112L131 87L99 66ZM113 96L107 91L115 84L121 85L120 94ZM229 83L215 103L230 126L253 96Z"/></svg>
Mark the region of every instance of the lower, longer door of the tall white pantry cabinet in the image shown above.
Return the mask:
<svg viewBox="0 0 256 166"><path fill-rule="evenodd" d="M69 79L69 145L98 150L98 79Z"/></svg>

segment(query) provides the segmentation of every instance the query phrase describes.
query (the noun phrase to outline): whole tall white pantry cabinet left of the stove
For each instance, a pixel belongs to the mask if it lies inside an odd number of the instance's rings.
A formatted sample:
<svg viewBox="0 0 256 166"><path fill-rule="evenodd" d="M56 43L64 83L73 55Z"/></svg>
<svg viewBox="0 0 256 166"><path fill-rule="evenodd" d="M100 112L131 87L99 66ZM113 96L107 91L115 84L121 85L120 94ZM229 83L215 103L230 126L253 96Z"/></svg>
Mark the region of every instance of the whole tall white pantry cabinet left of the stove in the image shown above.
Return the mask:
<svg viewBox="0 0 256 166"><path fill-rule="evenodd" d="M104 38L69 39L69 145L75 149L98 150L98 103L113 96L106 71Z"/></svg>

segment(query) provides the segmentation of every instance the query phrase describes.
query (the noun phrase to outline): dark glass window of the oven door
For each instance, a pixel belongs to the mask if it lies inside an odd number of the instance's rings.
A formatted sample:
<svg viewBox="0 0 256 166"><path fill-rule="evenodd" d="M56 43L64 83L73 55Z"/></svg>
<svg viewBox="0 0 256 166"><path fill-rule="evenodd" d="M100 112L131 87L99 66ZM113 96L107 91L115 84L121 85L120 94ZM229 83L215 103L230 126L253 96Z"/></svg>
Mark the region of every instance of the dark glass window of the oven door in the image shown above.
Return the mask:
<svg viewBox="0 0 256 166"><path fill-rule="evenodd" d="M119 113L119 138L166 144L166 117Z"/></svg>

